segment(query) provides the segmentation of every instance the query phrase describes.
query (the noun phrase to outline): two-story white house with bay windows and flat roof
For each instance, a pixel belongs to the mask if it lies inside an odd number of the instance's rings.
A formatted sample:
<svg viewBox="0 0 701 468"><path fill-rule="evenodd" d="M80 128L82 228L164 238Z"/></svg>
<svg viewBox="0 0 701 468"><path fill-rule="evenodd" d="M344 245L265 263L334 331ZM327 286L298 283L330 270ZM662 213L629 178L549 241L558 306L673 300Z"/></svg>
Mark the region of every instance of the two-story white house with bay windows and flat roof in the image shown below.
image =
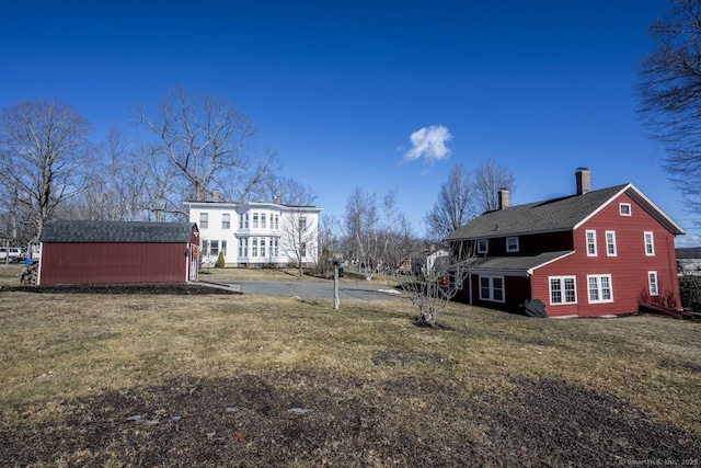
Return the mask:
<svg viewBox="0 0 701 468"><path fill-rule="evenodd" d="M319 214L315 206L274 203L185 202L189 221L199 228L202 259L227 266L299 264L318 259Z"/></svg>

